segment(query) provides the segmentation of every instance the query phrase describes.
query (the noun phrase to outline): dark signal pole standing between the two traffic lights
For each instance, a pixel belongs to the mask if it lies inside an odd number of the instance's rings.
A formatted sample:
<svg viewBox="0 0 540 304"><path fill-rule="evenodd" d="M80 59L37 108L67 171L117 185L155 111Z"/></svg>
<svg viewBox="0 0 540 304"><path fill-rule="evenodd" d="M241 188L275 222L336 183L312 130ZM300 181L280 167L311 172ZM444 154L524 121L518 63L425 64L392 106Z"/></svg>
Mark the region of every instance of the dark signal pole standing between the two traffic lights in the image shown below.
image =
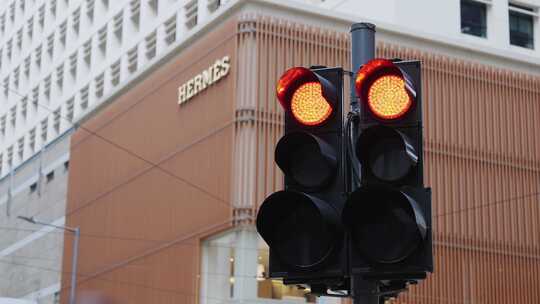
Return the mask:
<svg viewBox="0 0 540 304"><path fill-rule="evenodd" d="M355 92L356 73L360 67L375 58L375 25L372 23L354 23L351 26L351 67L354 71L351 77L351 111L360 114L361 107ZM357 125L353 125L352 138L357 137ZM351 164L356 165L356 164ZM355 178L354 175L349 174ZM356 190L357 183L350 181L352 191ZM375 281L366 281L360 276L351 278L351 289L354 304L379 304L379 286Z"/></svg>

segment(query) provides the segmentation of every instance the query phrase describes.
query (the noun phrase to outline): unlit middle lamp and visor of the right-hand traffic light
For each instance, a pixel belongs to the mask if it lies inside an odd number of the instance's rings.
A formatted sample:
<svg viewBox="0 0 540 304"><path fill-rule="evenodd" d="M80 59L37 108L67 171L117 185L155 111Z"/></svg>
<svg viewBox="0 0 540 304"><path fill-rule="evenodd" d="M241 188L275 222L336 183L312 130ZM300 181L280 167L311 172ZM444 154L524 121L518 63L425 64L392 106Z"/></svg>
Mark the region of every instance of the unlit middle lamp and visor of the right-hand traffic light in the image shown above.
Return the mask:
<svg viewBox="0 0 540 304"><path fill-rule="evenodd" d="M418 155L410 139L387 126L363 130L356 142L356 155L362 166L385 182L406 177L418 163Z"/></svg>

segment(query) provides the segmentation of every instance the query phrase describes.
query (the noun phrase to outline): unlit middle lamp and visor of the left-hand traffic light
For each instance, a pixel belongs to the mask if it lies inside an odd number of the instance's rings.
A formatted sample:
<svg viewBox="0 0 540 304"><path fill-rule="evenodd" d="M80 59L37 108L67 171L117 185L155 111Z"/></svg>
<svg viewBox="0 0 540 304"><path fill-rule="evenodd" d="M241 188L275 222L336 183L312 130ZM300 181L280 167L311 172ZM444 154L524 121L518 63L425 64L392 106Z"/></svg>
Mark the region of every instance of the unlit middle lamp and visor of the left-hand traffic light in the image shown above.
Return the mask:
<svg viewBox="0 0 540 304"><path fill-rule="evenodd" d="M306 132L283 136L276 146L275 160L288 178L308 188L326 185L337 170L334 149Z"/></svg>

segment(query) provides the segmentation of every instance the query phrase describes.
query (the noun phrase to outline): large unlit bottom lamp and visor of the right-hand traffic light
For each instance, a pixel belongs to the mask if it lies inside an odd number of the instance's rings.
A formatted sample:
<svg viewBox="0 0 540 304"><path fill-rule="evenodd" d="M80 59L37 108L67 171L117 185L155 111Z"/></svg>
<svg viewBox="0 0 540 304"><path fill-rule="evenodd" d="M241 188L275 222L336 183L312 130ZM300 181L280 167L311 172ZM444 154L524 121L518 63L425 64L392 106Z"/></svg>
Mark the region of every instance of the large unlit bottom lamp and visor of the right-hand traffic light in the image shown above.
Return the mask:
<svg viewBox="0 0 540 304"><path fill-rule="evenodd" d="M387 187L353 192L345 204L343 221L356 248L377 263L406 259L427 235L417 202L405 192Z"/></svg>

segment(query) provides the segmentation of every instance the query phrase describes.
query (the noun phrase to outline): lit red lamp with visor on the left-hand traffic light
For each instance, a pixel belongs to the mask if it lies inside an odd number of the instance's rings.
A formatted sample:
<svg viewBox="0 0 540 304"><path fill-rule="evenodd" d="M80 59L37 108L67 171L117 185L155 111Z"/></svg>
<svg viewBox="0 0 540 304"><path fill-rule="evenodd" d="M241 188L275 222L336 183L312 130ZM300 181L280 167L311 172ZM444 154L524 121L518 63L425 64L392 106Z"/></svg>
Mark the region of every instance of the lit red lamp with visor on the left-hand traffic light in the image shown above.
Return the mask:
<svg viewBox="0 0 540 304"><path fill-rule="evenodd" d="M333 113L335 88L315 72L294 67L278 81L277 98L286 111L306 126L323 124Z"/></svg>

